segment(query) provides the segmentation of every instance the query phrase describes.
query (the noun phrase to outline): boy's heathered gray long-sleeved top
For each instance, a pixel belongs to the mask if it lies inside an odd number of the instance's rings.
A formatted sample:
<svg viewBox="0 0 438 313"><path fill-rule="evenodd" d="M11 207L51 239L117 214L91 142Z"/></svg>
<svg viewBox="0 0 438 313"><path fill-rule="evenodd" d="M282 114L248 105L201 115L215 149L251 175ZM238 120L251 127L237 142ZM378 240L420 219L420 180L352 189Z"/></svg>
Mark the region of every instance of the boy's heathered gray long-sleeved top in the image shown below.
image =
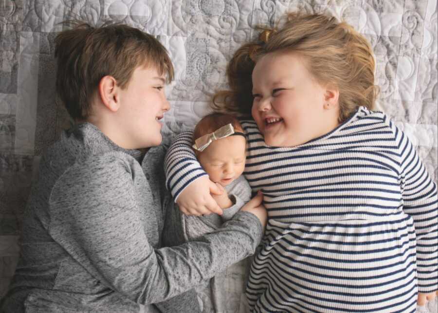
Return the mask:
<svg viewBox="0 0 438 313"><path fill-rule="evenodd" d="M63 133L42 157L25 210L20 259L6 312L156 312L252 254L255 215L239 212L218 231L160 248L165 207L164 146L116 146L89 123ZM143 167L143 168L142 168Z"/></svg>

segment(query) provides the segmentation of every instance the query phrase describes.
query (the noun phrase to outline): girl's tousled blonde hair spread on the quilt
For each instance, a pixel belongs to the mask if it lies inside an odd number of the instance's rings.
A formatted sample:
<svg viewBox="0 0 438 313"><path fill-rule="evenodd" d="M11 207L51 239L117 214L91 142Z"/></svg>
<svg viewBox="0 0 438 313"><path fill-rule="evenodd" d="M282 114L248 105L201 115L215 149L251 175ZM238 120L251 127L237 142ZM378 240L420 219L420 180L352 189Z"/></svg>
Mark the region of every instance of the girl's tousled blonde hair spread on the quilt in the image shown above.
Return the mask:
<svg viewBox="0 0 438 313"><path fill-rule="evenodd" d="M352 26L324 14L293 12L287 14L280 29L263 29L260 40L244 44L233 55L227 67L230 90L215 94L214 110L250 117L251 75L256 61L278 51L304 56L308 71L318 83L322 86L330 83L338 88L339 122L345 121L359 106L374 108L379 88L374 85L373 51Z"/></svg>

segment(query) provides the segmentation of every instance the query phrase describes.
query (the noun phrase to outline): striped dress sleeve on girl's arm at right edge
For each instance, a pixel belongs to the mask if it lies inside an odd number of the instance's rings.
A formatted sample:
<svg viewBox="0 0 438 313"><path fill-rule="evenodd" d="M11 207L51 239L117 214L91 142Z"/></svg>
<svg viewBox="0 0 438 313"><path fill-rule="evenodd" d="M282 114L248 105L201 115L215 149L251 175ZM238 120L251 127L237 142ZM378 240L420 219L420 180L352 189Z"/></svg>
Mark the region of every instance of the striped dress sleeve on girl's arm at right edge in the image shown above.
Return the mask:
<svg viewBox="0 0 438 313"><path fill-rule="evenodd" d="M401 149L403 211L414 220L417 241L419 293L438 290L438 196L437 185L421 162L415 148L398 130Z"/></svg>

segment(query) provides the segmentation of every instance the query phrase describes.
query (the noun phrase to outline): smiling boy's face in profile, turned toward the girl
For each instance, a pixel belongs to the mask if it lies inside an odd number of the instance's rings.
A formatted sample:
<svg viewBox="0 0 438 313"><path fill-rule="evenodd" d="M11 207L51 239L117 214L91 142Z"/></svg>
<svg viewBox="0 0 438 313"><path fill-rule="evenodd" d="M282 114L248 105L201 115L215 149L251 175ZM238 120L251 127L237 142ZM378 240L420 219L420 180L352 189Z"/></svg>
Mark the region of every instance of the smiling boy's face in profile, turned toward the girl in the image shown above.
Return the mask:
<svg viewBox="0 0 438 313"><path fill-rule="evenodd" d="M155 67L137 67L128 82L120 91L121 103L117 121L119 129L127 138L125 147L138 149L161 144L163 137L160 119L170 109L164 94L165 76Z"/></svg>

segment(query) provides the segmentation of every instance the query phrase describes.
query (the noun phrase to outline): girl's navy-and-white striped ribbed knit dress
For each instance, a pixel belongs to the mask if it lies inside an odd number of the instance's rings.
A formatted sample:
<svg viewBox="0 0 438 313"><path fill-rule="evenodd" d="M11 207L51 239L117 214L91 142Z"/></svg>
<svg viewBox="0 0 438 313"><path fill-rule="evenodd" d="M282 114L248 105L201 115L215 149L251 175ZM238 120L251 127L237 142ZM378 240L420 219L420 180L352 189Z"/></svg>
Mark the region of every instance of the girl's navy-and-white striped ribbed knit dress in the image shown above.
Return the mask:
<svg viewBox="0 0 438 313"><path fill-rule="evenodd" d="M269 216L247 286L256 312L415 312L417 292L438 289L437 186L387 116L361 107L297 147L242 126L245 176ZM174 196L201 175L181 144L188 174L166 168Z"/></svg>

